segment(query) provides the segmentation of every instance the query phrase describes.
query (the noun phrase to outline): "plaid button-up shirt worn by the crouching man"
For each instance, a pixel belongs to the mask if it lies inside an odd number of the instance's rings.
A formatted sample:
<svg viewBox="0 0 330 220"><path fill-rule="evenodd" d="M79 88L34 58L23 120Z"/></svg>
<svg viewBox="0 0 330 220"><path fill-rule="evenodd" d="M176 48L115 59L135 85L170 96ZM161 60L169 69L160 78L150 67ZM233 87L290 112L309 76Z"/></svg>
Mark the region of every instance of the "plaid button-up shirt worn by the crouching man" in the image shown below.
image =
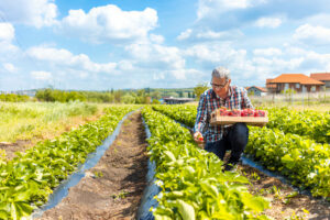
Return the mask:
<svg viewBox="0 0 330 220"><path fill-rule="evenodd" d="M211 125L211 112L218 108L226 107L227 109L253 109L253 106L248 97L248 91L242 87L230 86L228 97L221 99L216 95L213 89L206 90L199 99L197 108L197 117L194 127L194 132L202 133L206 142L216 142L222 139L228 127Z"/></svg>

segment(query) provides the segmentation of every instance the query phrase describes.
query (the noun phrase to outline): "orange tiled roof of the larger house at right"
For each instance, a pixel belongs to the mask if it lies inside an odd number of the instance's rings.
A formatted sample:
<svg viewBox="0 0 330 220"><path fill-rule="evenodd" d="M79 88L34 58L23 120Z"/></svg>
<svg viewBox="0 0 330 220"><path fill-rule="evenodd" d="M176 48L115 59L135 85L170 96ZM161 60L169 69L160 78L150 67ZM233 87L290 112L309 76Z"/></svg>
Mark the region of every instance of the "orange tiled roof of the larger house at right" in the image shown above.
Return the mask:
<svg viewBox="0 0 330 220"><path fill-rule="evenodd" d="M304 74L282 74L272 80L272 84L301 84L301 85L324 85L322 81L318 81L314 78L310 78Z"/></svg>

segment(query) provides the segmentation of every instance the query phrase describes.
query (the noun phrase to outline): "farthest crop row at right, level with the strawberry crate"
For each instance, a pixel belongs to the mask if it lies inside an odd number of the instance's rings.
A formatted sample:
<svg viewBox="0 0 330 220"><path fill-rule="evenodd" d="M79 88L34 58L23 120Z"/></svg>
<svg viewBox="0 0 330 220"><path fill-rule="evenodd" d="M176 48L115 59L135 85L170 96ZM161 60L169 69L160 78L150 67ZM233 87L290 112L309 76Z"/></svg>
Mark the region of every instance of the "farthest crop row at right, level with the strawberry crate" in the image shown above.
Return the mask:
<svg viewBox="0 0 330 220"><path fill-rule="evenodd" d="M318 143L330 143L330 112L295 111L288 108L268 110L267 128L306 136Z"/></svg>

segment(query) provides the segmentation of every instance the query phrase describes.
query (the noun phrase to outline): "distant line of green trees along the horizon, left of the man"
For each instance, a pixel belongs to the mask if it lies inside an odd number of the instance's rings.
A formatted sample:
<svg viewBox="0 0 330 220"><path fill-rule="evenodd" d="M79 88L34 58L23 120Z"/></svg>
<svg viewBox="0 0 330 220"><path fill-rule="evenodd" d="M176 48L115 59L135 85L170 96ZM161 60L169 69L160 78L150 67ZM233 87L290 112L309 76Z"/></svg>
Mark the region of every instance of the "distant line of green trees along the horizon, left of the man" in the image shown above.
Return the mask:
<svg viewBox="0 0 330 220"><path fill-rule="evenodd" d="M99 103L160 103L162 97L174 98L199 98L208 89L207 85L199 84L191 89L127 89L108 91L66 91L59 89L40 89L35 97L25 95L0 95L0 101L46 101L46 102L69 102L88 101Z"/></svg>

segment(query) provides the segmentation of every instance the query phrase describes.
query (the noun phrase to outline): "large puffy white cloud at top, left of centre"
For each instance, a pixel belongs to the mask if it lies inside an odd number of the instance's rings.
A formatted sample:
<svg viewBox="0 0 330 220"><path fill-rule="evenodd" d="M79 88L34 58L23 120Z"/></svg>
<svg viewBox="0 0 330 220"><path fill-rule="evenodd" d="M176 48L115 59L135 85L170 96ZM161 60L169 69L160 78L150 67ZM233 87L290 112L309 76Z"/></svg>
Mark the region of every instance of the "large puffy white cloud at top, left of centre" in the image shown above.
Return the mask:
<svg viewBox="0 0 330 220"><path fill-rule="evenodd" d="M144 41L147 33L157 26L157 20L154 9L122 11L117 6L108 4L92 8L88 13L81 9L70 10L68 16L62 20L59 30L92 43Z"/></svg>

